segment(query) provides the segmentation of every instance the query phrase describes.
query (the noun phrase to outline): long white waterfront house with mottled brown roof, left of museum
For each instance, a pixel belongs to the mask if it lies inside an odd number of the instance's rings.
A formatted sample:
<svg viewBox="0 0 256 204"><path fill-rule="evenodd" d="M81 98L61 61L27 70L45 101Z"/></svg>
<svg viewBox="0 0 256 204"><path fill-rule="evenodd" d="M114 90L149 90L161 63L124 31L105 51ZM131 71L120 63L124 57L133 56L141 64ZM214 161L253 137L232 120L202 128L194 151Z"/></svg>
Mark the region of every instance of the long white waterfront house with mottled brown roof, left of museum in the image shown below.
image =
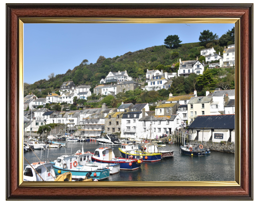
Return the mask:
<svg viewBox="0 0 256 204"><path fill-rule="evenodd" d="M138 138L156 138L164 134L171 134L177 128L181 128L181 117L179 115L156 115L144 116L139 119L137 135ZM167 133L166 133L167 132Z"/></svg>

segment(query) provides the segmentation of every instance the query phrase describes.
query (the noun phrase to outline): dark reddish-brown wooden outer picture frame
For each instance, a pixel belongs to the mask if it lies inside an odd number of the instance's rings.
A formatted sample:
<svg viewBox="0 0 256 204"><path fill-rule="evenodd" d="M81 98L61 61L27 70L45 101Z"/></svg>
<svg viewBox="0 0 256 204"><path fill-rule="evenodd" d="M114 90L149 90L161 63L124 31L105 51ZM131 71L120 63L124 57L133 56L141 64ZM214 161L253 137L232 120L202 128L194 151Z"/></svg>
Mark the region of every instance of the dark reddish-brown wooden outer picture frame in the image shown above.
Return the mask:
<svg viewBox="0 0 256 204"><path fill-rule="evenodd" d="M26 187L18 182L19 18L240 18L239 187ZM6 4L7 200L252 200L253 4ZM239 114L238 114L239 115ZM58 193L56 192L58 188ZM33 192L33 196L31 195ZM136 192L136 193L135 193ZM161 192L161 193L159 193Z"/></svg>

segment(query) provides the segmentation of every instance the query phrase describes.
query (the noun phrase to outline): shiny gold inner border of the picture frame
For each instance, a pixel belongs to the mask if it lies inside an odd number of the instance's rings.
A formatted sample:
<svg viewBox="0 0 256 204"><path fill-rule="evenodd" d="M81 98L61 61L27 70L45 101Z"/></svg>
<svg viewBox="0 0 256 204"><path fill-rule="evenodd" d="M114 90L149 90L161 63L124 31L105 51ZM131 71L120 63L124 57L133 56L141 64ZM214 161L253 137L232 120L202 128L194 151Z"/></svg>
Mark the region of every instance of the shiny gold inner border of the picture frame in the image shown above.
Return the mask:
<svg viewBox="0 0 256 204"><path fill-rule="evenodd" d="M241 182L241 75L240 75L240 18L19 18L18 19L18 183L27 187L103 187L103 186L184 186L227 187L240 186ZM101 182L43 182L23 181L23 24L24 23L234 23L235 24L235 181L101 181ZM238 117L239 116L239 117Z"/></svg>

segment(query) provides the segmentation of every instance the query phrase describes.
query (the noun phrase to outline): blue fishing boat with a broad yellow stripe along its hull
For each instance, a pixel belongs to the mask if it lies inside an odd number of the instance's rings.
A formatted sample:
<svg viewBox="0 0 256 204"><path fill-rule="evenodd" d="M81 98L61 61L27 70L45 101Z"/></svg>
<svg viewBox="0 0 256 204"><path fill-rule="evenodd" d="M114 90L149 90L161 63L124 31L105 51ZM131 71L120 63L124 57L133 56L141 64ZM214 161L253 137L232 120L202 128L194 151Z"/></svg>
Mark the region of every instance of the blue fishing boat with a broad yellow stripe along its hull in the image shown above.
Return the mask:
<svg viewBox="0 0 256 204"><path fill-rule="evenodd" d="M161 153L158 151L158 145L156 143L133 143L122 144L121 148L118 148L123 158L128 154L133 158L142 158L143 162L158 162L161 160Z"/></svg>

